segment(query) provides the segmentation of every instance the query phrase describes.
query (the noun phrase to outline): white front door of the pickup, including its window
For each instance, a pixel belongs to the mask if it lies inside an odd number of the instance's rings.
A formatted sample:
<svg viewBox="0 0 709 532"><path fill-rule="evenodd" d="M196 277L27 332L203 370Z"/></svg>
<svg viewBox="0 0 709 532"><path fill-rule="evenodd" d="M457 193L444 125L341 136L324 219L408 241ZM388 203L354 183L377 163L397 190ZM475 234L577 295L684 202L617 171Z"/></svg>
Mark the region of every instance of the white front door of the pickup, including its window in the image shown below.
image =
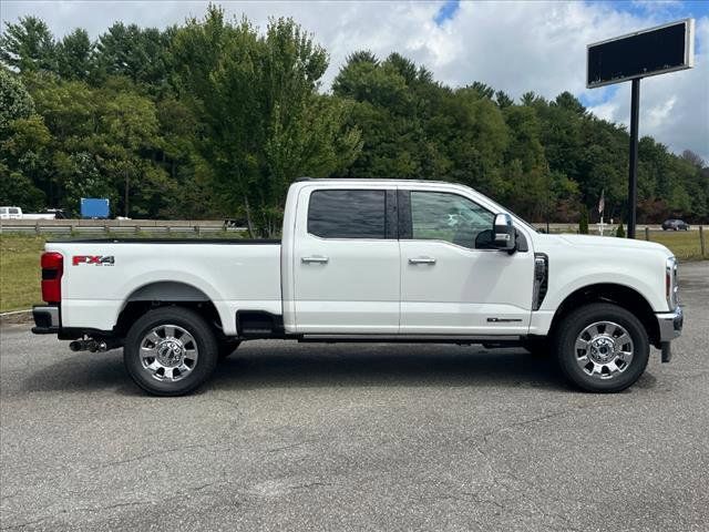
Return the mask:
<svg viewBox="0 0 709 532"><path fill-rule="evenodd" d="M485 248L494 213L454 193L400 191L401 334L522 335L534 254Z"/></svg>

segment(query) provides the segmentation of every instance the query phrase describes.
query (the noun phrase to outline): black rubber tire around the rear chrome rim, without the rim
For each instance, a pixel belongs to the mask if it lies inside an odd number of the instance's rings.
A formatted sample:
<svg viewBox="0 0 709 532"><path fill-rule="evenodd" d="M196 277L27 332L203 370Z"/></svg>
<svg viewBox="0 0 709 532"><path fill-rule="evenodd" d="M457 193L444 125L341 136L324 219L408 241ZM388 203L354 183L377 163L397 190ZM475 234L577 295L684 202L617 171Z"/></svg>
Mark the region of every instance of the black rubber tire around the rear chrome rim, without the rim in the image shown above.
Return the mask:
<svg viewBox="0 0 709 532"><path fill-rule="evenodd" d="M141 344L145 336L161 325L176 325L185 329L196 344L198 357L188 375L175 381L161 381L150 375L141 362ZM183 396L207 380L217 364L218 345L209 325L196 313L183 307L162 307L138 318L125 338L123 362L131 378L154 396Z"/></svg>

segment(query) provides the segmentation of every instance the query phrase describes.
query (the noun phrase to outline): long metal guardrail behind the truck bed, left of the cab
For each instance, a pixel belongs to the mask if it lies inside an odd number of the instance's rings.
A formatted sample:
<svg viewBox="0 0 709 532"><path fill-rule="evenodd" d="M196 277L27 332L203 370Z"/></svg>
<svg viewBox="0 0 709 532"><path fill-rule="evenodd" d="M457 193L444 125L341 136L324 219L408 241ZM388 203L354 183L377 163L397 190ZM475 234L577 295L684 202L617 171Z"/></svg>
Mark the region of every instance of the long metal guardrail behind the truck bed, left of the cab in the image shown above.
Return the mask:
<svg viewBox="0 0 709 532"><path fill-rule="evenodd" d="M228 226L223 221L204 219L6 219L0 233L35 235L131 235L140 233L244 233L246 227Z"/></svg>

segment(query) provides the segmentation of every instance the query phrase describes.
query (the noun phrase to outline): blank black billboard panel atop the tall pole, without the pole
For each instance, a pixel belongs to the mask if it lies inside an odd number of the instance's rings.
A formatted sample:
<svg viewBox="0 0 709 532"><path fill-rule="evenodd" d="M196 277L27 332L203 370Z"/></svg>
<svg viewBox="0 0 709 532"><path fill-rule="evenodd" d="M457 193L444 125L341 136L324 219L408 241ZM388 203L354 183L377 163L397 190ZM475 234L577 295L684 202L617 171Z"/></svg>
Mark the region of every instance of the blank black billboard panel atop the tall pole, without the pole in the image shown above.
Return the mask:
<svg viewBox="0 0 709 532"><path fill-rule="evenodd" d="M685 19L587 45L586 86L691 69L693 19Z"/></svg>

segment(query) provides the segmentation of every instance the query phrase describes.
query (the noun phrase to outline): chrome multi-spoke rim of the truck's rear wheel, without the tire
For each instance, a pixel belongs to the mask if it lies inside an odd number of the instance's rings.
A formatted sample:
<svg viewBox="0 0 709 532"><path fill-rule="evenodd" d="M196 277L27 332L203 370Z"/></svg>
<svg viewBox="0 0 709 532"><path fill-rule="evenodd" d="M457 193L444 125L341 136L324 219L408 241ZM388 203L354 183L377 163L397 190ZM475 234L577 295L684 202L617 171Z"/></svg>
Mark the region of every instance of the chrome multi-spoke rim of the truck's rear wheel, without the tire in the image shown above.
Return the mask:
<svg viewBox="0 0 709 532"><path fill-rule="evenodd" d="M158 325L141 340L141 366L162 382L187 377L197 365L197 342L178 325Z"/></svg>

